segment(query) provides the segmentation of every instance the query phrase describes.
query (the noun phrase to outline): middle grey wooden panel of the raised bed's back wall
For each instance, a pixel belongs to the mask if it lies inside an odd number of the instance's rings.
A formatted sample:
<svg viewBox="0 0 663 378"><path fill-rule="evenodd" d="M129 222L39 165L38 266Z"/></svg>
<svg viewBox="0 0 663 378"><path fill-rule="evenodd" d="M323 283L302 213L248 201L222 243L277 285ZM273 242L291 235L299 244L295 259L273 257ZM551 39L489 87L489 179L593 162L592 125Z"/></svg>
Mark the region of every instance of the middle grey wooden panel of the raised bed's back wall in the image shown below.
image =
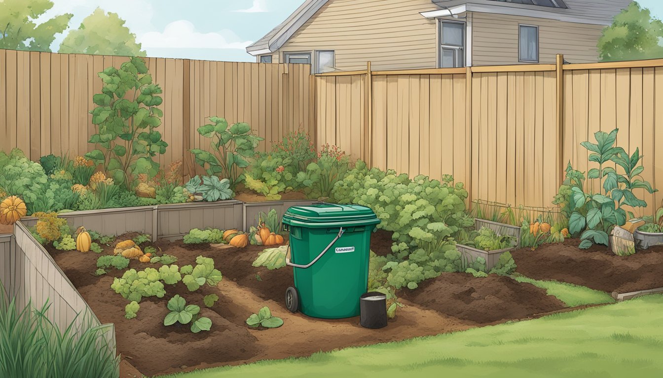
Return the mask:
<svg viewBox="0 0 663 378"><path fill-rule="evenodd" d="M192 228L241 229L242 205L234 199L158 205L156 234L159 239L176 240L188 234Z"/></svg>

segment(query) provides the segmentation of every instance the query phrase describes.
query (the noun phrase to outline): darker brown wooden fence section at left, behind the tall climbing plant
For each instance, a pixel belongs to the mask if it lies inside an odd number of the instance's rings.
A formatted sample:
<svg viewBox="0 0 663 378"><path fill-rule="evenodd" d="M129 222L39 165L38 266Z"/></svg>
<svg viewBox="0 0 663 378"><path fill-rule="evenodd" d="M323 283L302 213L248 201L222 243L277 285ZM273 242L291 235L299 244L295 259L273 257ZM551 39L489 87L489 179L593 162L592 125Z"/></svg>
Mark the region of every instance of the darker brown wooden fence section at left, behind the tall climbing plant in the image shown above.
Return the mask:
<svg viewBox="0 0 663 378"><path fill-rule="evenodd" d="M129 58L0 50L0 150L18 147L32 160L47 154L82 155L93 149L88 111L101 92L97 73L119 68ZM290 130L314 134L310 66L146 58L152 79L163 89L162 126L168 142L162 165L184 161L187 150L207 148L196 132L211 116L248 122L269 148ZM200 168L198 168L200 172Z"/></svg>

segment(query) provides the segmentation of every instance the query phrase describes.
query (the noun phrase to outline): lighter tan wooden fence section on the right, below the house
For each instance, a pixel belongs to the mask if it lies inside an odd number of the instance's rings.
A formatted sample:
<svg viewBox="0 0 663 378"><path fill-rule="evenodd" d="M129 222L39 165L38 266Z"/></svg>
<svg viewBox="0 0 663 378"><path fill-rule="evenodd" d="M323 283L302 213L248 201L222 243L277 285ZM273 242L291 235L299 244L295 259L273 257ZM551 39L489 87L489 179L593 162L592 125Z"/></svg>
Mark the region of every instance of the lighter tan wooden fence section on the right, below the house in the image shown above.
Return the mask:
<svg viewBox="0 0 663 378"><path fill-rule="evenodd" d="M452 174L471 199L552 207L567 163L588 169L580 143L619 128L619 146L639 148L644 179L663 189L663 60L562 62L316 75L318 144L411 176ZM663 200L638 195L644 213Z"/></svg>

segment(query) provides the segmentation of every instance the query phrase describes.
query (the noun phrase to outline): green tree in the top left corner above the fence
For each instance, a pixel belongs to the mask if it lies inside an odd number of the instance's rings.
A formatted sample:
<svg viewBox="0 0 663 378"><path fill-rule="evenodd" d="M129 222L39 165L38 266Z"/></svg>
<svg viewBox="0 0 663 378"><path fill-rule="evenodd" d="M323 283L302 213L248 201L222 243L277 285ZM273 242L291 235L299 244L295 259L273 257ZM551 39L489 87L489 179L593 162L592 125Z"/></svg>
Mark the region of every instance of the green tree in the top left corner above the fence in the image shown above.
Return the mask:
<svg viewBox="0 0 663 378"><path fill-rule="evenodd" d="M66 13L34 23L52 7L49 0L0 1L0 48L50 52L55 34L63 32L73 16Z"/></svg>

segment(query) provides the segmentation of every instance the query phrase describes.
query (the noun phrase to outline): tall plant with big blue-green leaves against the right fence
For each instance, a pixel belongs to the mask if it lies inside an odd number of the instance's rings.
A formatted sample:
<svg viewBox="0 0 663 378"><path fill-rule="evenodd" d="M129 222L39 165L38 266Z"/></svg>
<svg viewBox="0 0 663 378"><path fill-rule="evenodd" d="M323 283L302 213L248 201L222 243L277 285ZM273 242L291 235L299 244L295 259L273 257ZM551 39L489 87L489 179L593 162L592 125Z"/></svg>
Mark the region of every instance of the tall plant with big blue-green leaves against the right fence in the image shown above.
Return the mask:
<svg viewBox="0 0 663 378"><path fill-rule="evenodd" d="M589 169L587 178L598 179L602 190L599 193L586 193L581 185L571 187L569 232L572 235L580 234L579 248L586 249L593 244L607 246L610 229L625 224L627 216L633 217L633 213L627 214L625 207L647 205L636 197L633 190L644 189L648 193L656 191L640 176L644 170L640 150L636 148L629 156L623 148L615 146L617 132L619 129L609 134L599 131L594 134L596 143L581 143L591 152L589 161L599 165L598 168ZM607 164L617 164L623 173L614 167L606 167Z"/></svg>

